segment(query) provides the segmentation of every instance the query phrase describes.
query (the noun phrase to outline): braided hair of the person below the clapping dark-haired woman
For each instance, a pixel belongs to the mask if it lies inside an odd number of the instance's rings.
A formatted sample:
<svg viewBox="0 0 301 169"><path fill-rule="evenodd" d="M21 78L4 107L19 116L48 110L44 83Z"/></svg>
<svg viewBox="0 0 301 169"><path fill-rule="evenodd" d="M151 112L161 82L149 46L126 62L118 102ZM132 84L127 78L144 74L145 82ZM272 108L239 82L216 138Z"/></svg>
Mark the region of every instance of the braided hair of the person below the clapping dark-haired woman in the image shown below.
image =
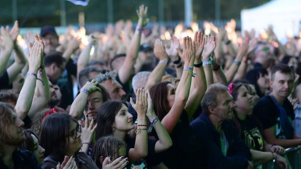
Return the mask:
<svg viewBox="0 0 301 169"><path fill-rule="evenodd" d="M100 137L96 141L95 150L92 154L92 159L98 168L102 168L102 163L100 162L100 157L106 158L111 155L110 160L114 161L119 158L119 149L121 146L125 146L126 144L114 137L113 135L107 135Z"/></svg>

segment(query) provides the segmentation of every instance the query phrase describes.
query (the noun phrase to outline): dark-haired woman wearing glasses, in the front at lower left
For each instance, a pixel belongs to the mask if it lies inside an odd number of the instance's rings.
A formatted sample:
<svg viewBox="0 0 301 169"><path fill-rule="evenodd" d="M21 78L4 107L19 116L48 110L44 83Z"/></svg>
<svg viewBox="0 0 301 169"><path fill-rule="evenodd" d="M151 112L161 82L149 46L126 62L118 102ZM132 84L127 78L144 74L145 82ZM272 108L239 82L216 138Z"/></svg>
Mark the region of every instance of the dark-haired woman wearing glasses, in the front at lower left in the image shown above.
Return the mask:
<svg viewBox="0 0 301 169"><path fill-rule="evenodd" d="M82 147L82 126L66 113L53 113L42 123L40 144L45 148L45 163L43 169L56 168L64 161L64 157L73 158L76 166L82 169L97 168L92 158L85 152L79 152Z"/></svg>

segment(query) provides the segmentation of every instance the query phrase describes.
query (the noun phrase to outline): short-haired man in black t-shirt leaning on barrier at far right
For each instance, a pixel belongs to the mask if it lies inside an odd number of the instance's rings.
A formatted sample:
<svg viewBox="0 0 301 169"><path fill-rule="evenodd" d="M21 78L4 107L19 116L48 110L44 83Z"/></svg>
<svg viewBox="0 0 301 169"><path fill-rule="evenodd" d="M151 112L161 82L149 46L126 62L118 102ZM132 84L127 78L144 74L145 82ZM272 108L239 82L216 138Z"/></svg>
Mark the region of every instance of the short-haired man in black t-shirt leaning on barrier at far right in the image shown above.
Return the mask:
<svg viewBox="0 0 301 169"><path fill-rule="evenodd" d="M301 145L301 136L295 134L292 121L294 108L288 100L294 86L292 70L288 65L278 64L271 71L270 95L258 100L253 114L262 124L262 136L269 144L284 148Z"/></svg>

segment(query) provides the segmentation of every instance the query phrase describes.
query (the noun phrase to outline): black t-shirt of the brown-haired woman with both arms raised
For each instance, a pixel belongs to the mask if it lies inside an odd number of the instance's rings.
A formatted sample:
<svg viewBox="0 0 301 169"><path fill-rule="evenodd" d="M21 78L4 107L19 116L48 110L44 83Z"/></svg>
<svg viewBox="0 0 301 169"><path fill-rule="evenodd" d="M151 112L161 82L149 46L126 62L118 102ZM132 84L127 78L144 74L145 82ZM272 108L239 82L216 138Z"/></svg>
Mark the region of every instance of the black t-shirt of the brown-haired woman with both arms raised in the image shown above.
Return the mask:
<svg viewBox="0 0 301 169"><path fill-rule="evenodd" d="M194 129L189 125L185 110L183 110L180 120L170 134L172 147L159 153L158 156L170 169L202 168L205 140L195 134ZM157 135L155 137L158 139Z"/></svg>

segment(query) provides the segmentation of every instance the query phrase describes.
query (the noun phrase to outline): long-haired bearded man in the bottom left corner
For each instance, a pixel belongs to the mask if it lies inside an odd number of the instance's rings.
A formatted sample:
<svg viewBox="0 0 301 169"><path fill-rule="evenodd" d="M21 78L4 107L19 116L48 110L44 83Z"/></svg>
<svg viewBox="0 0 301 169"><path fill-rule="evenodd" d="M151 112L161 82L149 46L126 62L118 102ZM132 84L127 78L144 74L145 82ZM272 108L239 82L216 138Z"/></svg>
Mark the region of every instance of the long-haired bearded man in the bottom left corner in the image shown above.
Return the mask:
<svg viewBox="0 0 301 169"><path fill-rule="evenodd" d="M14 108L0 102L0 168L1 169L40 169L41 166L30 151L18 149L24 142L24 122L20 120Z"/></svg>

